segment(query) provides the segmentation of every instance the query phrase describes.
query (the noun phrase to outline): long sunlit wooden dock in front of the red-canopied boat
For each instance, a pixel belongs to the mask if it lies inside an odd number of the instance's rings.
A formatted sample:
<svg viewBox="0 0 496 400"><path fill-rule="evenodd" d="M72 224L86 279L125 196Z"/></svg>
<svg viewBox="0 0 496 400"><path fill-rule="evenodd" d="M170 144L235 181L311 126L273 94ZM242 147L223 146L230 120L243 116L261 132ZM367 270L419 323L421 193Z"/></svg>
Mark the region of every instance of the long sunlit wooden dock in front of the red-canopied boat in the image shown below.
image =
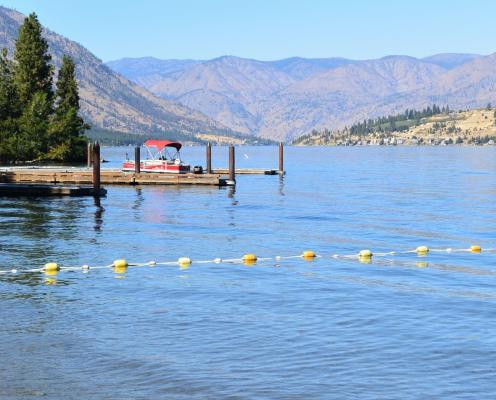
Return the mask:
<svg viewBox="0 0 496 400"><path fill-rule="evenodd" d="M7 168L0 170L0 183L93 184L89 168ZM134 173L102 169L102 185L211 185L226 186L219 174Z"/></svg>

